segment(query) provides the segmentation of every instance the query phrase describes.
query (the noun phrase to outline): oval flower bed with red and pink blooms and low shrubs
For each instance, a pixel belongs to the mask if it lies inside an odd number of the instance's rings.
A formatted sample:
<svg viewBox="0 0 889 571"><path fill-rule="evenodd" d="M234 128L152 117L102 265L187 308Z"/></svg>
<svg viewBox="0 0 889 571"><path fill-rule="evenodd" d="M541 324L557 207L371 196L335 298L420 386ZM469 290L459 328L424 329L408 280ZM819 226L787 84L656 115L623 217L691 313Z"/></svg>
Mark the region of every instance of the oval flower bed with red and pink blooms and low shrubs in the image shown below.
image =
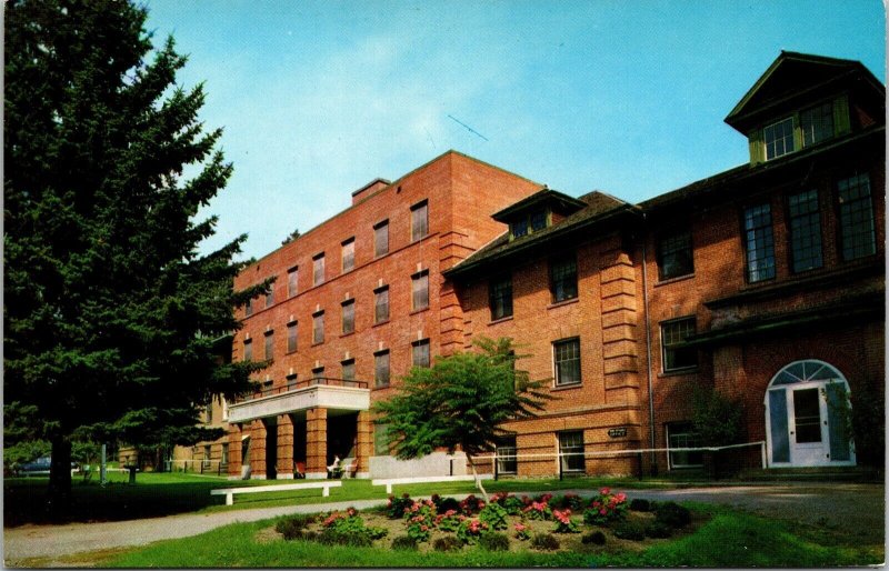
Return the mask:
<svg viewBox="0 0 889 571"><path fill-rule="evenodd" d="M353 508L279 521L288 540L383 549L510 551L640 550L691 531L685 508L668 502L651 511L628 509L627 495L607 488L591 498L572 494L533 498L497 493L490 503L470 495L457 502L433 495L389 499L382 510ZM592 539L595 535L595 540Z"/></svg>

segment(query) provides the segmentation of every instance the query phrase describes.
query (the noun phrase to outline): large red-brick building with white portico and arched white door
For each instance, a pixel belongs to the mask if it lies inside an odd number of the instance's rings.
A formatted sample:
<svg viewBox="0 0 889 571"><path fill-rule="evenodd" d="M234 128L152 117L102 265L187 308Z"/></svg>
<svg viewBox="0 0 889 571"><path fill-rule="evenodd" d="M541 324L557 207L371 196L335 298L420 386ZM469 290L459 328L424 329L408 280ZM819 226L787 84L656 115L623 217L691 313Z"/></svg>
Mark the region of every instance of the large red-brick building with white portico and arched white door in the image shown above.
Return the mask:
<svg viewBox="0 0 889 571"><path fill-rule="evenodd" d="M885 399L885 88L859 62L782 52L726 121L748 163L640 204L456 152L360 189L238 278L277 278L232 350L273 363L209 453L231 477L322 478L334 454L358 475L447 473L390 459L368 408L486 335L513 338L553 397L505 427L501 473L700 468L663 451L700 443L698 389L740 403L769 467L855 465L843 391Z"/></svg>

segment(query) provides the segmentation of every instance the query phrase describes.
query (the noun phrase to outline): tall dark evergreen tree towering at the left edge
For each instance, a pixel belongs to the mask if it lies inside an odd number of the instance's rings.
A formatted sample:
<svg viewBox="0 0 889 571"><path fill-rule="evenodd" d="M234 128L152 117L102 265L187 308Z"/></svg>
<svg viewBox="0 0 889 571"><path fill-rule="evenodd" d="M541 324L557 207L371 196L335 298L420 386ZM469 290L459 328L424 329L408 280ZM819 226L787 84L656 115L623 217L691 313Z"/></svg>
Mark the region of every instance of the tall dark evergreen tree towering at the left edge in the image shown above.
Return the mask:
<svg viewBox="0 0 889 571"><path fill-rule="evenodd" d="M4 422L28 411L51 442L53 510L72 439L212 435L192 430L200 407L258 367L218 359L232 308L268 286L232 291L244 237L198 252L216 219L193 219L232 170L221 131L146 18L119 0L6 6Z"/></svg>

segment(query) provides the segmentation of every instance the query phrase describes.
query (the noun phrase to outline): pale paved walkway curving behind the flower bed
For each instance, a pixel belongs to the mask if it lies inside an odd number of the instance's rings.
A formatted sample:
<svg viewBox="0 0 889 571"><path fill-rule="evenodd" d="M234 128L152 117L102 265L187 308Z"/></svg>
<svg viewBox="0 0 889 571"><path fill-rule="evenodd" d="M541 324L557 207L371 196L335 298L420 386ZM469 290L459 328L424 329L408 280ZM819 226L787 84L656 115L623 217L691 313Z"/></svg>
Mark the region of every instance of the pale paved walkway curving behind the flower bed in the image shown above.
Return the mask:
<svg viewBox="0 0 889 571"><path fill-rule="evenodd" d="M559 490L553 493L568 492L589 495L595 490ZM855 530L862 541L882 542L885 535L886 495L881 484L806 482L627 492L630 498L726 504L769 517ZM517 494L521 495L521 492ZM384 501L288 505L102 523L22 525L3 530L4 563L11 567L16 561L30 558L57 558L86 551L144 545L164 539L197 535L229 523L288 513L344 509L349 505L364 509Z"/></svg>

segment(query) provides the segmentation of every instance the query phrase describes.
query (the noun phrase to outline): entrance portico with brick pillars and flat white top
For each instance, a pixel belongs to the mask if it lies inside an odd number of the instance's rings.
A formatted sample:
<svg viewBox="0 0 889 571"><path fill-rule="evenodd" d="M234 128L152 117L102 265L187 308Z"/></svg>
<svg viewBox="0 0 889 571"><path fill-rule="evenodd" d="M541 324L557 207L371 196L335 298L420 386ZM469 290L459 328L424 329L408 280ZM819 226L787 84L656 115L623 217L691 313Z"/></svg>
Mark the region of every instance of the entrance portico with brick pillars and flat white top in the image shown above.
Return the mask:
<svg viewBox="0 0 889 571"><path fill-rule="evenodd" d="M317 378L258 391L229 405L229 478L322 479L337 455L352 459L356 477L367 478L369 408L362 381Z"/></svg>

